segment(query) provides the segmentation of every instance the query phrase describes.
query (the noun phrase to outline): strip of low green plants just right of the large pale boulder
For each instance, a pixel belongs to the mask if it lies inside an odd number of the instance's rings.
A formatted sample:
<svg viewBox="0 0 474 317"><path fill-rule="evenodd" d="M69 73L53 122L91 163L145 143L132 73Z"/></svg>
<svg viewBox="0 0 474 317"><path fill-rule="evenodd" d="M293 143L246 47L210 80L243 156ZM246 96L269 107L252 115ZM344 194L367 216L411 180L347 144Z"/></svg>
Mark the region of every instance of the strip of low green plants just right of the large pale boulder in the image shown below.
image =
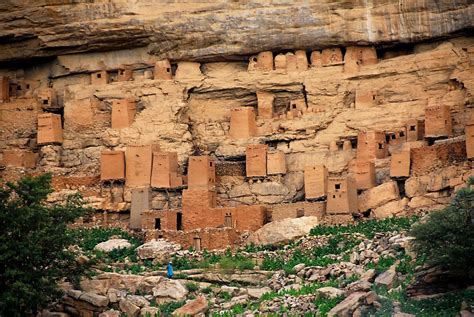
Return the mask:
<svg viewBox="0 0 474 317"><path fill-rule="evenodd" d="M372 239L376 233L408 230L417 220L417 216L412 216L410 218L394 217L382 220L371 219L343 226L317 226L311 229L310 235L320 236L341 233L361 233L367 238Z"/></svg>

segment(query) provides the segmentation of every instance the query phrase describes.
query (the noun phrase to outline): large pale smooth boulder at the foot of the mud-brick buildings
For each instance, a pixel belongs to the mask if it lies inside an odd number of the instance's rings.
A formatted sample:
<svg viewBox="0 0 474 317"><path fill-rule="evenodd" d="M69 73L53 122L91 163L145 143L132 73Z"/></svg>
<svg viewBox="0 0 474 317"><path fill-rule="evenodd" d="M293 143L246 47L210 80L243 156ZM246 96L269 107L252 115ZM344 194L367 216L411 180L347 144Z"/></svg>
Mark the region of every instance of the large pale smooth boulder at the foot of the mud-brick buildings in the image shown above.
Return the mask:
<svg viewBox="0 0 474 317"><path fill-rule="evenodd" d="M267 223L253 232L247 243L277 244L304 236L319 223L317 217L287 218Z"/></svg>

